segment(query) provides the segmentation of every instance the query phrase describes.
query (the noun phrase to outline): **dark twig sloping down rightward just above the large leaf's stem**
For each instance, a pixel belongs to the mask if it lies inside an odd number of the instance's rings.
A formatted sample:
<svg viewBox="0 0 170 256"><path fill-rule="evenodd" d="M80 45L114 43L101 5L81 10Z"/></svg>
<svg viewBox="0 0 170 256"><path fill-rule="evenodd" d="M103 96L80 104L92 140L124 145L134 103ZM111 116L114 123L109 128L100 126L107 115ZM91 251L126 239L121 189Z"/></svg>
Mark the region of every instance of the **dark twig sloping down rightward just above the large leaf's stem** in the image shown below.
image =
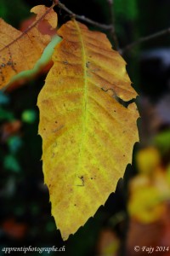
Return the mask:
<svg viewBox="0 0 170 256"><path fill-rule="evenodd" d="M71 15L72 17L76 18L77 20L82 20L87 22L88 24L97 26L99 28L102 28L104 30L111 30L112 29L112 24L106 25L106 24L101 24L97 21L91 20L86 18L84 15L76 15L75 13L73 13L70 9L68 9L65 4L60 3L58 0L54 0L55 5L58 5L60 9L64 9L65 12L67 12L69 15Z"/></svg>

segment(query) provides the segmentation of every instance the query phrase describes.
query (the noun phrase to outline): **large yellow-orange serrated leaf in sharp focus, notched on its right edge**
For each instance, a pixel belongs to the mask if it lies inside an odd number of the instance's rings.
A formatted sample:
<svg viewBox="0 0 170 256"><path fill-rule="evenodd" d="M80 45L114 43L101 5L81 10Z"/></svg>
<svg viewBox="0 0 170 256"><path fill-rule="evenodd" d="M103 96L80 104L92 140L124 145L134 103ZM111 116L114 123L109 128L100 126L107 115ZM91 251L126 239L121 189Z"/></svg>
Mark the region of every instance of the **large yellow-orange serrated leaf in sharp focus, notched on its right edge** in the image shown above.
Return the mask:
<svg viewBox="0 0 170 256"><path fill-rule="evenodd" d="M125 61L105 34L76 20L59 30L46 84L38 96L42 160L52 214L63 239L94 216L116 189L138 141L136 96Z"/></svg>

